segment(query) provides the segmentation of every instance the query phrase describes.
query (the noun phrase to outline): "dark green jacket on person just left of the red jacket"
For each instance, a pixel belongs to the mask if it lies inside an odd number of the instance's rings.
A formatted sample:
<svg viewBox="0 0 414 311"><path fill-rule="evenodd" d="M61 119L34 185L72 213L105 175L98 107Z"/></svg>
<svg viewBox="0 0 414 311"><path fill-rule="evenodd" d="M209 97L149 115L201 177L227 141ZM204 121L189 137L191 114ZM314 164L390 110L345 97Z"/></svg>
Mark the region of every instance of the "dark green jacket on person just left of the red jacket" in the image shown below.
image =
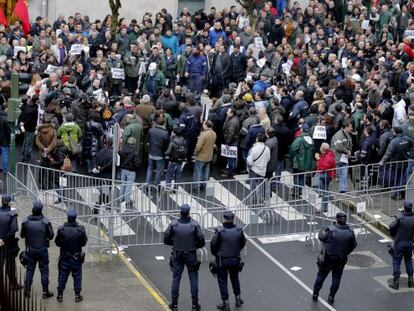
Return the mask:
<svg viewBox="0 0 414 311"><path fill-rule="evenodd" d="M315 145L309 133L296 137L289 148L289 157L294 169L307 172L316 169Z"/></svg>

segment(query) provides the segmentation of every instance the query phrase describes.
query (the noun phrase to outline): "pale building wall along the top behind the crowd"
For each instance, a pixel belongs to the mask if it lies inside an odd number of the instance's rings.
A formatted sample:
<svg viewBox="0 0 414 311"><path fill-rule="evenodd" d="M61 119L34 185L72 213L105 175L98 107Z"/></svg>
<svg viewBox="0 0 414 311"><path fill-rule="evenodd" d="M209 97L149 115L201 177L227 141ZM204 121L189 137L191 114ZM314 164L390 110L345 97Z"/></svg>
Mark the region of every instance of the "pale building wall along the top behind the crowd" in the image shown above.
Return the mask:
<svg viewBox="0 0 414 311"><path fill-rule="evenodd" d="M204 8L206 12L210 7L223 9L236 5L235 0L121 0L121 16L127 19L136 18L139 20L145 12L156 13L162 8L166 8L173 16L181 12L183 7L188 7L190 12ZM292 0L293 1L293 0ZM299 0L300 3L308 3L309 0ZM80 12L88 15L91 20L103 19L110 14L108 0L29 0L30 19L34 20L36 16L48 16L53 21L63 13L66 17Z"/></svg>

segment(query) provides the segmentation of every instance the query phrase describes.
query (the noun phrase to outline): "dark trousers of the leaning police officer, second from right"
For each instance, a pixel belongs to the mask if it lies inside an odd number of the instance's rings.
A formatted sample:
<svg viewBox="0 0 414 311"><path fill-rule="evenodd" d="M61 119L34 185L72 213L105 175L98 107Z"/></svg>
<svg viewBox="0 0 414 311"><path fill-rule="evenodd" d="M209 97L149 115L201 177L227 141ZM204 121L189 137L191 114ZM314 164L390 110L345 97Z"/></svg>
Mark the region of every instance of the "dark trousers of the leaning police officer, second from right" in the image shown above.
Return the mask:
<svg viewBox="0 0 414 311"><path fill-rule="evenodd" d="M319 266L319 271L316 276L314 290L319 293L322 288L323 282L332 271L332 285L329 292L329 296L335 297L336 292L339 289L341 283L342 273L344 272L347 257L337 257L326 254L324 262Z"/></svg>

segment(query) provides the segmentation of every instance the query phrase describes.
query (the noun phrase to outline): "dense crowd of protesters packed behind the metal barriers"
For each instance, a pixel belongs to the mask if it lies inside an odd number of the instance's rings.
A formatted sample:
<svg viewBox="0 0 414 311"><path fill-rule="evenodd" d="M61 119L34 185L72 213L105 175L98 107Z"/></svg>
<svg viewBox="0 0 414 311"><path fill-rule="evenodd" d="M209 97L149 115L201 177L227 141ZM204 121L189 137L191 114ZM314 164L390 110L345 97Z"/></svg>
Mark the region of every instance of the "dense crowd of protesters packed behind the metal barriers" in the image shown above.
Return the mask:
<svg viewBox="0 0 414 311"><path fill-rule="evenodd" d="M346 192L350 164L411 159L414 2L353 0L343 16L330 0L279 2L257 1L252 16L163 9L121 18L115 33L111 15L38 17L27 35L19 22L0 25L3 171L12 73L29 81L22 161L37 160L36 145L45 167L109 177L116 124L120 177L134 181L148 163L155 185L165 170L167 183L180 181L183 163L194 165L196 188L210 163L228 178L269 178L289 163L325 172L325 185L337 177Z"/></svg>

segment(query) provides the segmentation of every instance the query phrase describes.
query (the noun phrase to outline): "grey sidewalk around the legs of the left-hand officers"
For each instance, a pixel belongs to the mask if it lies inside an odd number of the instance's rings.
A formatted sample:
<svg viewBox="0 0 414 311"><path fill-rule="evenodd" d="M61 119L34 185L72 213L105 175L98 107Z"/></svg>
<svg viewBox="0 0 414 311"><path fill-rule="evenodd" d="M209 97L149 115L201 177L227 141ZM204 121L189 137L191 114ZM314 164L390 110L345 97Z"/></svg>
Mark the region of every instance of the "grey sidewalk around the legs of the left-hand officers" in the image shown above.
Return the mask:
<svg viewBox="0 0 414 311"><path fill-rule="evenodd" d="M94 262L87 258L83 266L82 296L84 300L75 303L73 279L70 277L64 293L63 303L58 303L56 301L58 248L52 246L49 249L49 256L49 290L53 291L55 296L44 301L47 311L166 310L151 296L150 292L127 265L115 255L112 261L109 261L106 256L102 256L101 261L97 256ZM36 270L33 285L36 292L41 291L39 270Z"/></svg>

